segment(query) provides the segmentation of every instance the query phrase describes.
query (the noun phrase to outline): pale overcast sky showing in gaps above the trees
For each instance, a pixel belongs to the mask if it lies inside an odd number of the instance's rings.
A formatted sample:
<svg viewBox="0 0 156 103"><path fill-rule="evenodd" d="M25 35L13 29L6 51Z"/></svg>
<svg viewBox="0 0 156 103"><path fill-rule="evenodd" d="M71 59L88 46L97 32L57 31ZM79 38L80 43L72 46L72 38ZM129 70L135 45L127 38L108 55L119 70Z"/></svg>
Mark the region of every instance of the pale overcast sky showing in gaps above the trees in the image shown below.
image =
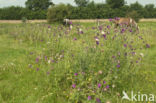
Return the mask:
<svg viewBox="0 0 156 103"><path fill-rule="evenodd" d="M27 0L0 0L0 8L1 7L7 7L7 6L24 6L25 5L25 1ZM74 0L52 0L55 4L58 3L70 3L72 5L75 5ZM92 0L90 0L92 1ZM105 2L105 0L93 0L94 2ZM127 1L128 4L130 3L134 3L136 1L138 1L139 3L141 3L142 5L145 4L155 4L156 6L156 0L125 0Z"/></svg>

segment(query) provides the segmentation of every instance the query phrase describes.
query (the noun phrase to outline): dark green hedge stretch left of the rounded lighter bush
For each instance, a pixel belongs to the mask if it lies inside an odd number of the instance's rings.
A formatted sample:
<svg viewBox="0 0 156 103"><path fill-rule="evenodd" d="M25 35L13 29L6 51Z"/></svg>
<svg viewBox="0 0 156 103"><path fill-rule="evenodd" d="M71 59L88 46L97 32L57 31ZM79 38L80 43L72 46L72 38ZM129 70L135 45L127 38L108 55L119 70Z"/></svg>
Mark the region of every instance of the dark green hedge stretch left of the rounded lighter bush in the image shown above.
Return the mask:
<svg viewBox="0 0 156 103"><path fill-rule="evenodd" d="M32 11L23 7L7 7L0 9L1 20L21 20L22 17L27 19L46 19L46 10Z"/></svg>

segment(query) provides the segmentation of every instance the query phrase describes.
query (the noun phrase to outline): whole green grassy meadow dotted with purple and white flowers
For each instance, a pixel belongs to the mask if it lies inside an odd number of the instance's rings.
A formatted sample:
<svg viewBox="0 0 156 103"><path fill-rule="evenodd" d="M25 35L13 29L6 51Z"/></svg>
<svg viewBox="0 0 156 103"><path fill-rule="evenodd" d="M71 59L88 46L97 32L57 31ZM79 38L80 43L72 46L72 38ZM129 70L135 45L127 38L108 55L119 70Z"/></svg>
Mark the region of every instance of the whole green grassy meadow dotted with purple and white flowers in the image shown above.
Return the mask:
<svg viewBox="0 0 156 103"><path fill-rule="evenodd" d="M122 92L156 95L156 22L139 27L136 34L108 22L1 23L0 103L135 103Z"/></svg>

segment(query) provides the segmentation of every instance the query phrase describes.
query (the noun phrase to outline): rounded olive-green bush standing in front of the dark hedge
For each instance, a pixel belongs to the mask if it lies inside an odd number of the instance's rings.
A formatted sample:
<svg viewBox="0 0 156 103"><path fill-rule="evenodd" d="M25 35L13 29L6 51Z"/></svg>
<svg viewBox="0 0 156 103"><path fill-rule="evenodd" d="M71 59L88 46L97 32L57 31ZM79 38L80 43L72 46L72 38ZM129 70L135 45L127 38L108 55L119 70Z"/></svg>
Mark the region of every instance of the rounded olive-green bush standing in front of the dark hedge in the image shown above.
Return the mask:
<svg viewBox="0 0 156 103"><path fill-rule="evenodd" d="M49 8L47 19L49 23L63 22L63 19L68 18L70 12L67 5L59 4Z"/></svg>

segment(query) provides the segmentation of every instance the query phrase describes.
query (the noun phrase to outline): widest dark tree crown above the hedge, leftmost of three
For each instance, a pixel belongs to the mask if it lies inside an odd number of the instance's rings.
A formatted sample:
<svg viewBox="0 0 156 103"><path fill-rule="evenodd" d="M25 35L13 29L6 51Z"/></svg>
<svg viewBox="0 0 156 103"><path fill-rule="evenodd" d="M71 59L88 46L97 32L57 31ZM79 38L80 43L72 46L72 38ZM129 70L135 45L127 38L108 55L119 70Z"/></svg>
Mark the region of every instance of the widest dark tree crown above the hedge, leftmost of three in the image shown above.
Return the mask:
<svg viewBox="0 0 156 103"><path fill-rule="evenodd" d="M51 0L27 0L25 5L30 10L47 10L50 5L54 5Z"/></svg>

